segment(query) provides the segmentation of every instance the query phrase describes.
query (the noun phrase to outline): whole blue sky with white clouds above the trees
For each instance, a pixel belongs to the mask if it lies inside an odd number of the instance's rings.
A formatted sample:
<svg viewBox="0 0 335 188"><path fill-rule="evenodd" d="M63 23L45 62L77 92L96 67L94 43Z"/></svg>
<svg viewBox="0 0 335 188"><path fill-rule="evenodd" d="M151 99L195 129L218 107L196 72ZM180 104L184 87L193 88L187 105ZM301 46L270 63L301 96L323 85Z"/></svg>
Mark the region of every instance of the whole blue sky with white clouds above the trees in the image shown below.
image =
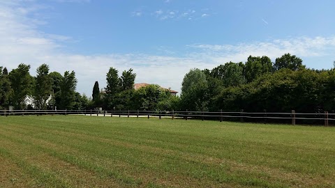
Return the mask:
<svg viewBox="0 0 335 188"><path fill-rule="evenodd" d="M135 83L181 92L192 68L285 53L307 68L333 68L333 0L0 0L0 66L31 75L75 71L77 91L106 86L110 67Z"/></svg>

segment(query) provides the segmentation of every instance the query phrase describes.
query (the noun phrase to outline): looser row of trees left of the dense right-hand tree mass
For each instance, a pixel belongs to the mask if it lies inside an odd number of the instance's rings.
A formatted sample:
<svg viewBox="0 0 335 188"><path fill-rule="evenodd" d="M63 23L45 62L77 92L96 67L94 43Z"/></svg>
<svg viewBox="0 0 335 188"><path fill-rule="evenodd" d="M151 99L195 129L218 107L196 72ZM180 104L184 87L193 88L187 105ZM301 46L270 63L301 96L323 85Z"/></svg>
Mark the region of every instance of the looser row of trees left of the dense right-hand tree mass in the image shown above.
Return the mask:
<svg viewBox="0 0 335 188"><path fill-rule="evenodd" d="M0 109L68 109L84 110L102 107L104 110L171 110L179 98L170 91L151 84L135 91L136 74L132 69L121 73L110 68L106 88L94 84L92 97L75 91L74 71L49 72L49 66L40 65L36 77L29 74L30 65L21 63L8 72L0 66ZM27 98L32 100L27 105Z"/></svg>

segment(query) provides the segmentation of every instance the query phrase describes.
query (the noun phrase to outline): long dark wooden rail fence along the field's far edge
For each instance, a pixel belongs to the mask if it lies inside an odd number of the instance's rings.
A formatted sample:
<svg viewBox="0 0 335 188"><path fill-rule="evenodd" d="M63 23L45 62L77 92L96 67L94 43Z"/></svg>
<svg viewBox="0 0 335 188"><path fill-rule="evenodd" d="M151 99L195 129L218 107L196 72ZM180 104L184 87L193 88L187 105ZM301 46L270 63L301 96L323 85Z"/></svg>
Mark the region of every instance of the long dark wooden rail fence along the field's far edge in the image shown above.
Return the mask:
<svg viewBox="0 0 335 188"><path fill-rule="evenodd" d="M256 120L258 122L268 123L271 120L276 120L277 123L299 123L308 124L322 124L329 125L329 122L334 125L335 113L296 113L292 110L288 112L246 112L246 111L98 111L98 110L0 110L0 116L25 116L25 115L84 115L84 116L127 116L129 117L158 117L158 118L184 118L188 119L201 119L201 120L239 120L243 122ZM316 122L316 123L315 123ZM322 122L322 123L321 123Z"/></svg>

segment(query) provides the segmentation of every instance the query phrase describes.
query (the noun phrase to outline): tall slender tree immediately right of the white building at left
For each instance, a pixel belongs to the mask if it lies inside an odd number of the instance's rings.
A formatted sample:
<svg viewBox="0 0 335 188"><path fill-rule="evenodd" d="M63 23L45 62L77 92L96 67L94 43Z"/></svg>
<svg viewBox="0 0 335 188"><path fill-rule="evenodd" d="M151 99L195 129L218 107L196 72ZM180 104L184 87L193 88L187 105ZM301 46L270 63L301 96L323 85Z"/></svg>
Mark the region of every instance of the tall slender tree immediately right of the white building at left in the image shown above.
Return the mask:
<svg viewBox="0 0 335 188"><path fill-rule="evenodd" d="M34 92L35 106L38 109L46 109L47 99L52 94L52 78L49 75L49 66L40 65L36 70L36 86Z"/></svg>

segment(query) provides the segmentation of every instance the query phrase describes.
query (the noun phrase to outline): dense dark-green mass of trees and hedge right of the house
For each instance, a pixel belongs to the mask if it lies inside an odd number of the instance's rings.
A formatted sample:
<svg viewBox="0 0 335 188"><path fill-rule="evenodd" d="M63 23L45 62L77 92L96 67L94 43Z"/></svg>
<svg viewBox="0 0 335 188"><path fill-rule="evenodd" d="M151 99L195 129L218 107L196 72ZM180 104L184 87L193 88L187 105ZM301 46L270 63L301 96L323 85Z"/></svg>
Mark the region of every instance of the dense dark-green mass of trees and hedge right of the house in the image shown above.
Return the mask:
<svg viewBox="0 0 335 188"><path fill-rule="evenodd" d="M334 113L335 69L306 68L291 54L274 63L267 56L249 56L246 63L190 70L181 90L181 110Z"/></svg>

